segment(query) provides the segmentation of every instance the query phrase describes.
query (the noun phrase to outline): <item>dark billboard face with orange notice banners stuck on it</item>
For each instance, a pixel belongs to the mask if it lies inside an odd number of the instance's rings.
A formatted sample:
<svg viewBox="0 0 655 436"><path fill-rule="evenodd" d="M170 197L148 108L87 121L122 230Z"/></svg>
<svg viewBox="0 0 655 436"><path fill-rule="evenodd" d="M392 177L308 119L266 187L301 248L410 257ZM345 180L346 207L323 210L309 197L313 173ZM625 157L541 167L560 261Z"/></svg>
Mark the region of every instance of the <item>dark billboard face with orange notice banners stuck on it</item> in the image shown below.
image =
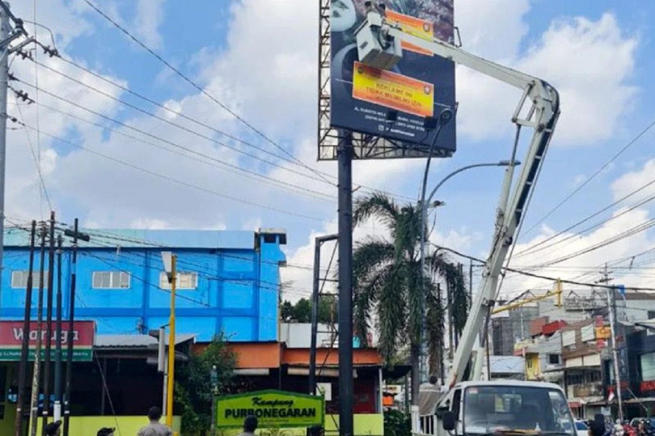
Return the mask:
<svg viewBox="0 0 655 436"><path fill-rule="evenodd" d="M389 71L360 63L355 30L365 19L364 3L331 0L330 126L358 132L360 142L373 144L383 138L383 148L404 150L384 157L426 156L436 137L434 118L445 108L455 113L455 65L408 43L402 43L402 59ZM386 19L403 29L453 40L453 0L381 3L386 4ZM361 143L359 146L365 148ZM453 120L441 131L434 154L449 156L454 151ZM371 154L356 157L375 158Z"/></svg>

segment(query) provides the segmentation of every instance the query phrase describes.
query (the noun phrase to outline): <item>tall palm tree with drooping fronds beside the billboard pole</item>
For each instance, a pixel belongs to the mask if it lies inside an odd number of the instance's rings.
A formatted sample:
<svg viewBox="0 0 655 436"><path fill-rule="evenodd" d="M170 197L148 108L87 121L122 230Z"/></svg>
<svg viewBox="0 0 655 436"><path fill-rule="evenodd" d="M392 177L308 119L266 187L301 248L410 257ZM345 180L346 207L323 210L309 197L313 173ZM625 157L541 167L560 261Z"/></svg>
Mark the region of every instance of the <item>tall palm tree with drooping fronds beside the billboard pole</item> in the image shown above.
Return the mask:
<svg viewBox="0 0 655 436"><path fill-rule="evenodd" d="M422 293L426 291L428 347L443 352L443 304L438 282L445 282L453 297L457 295L458 312L466 312L464 279L457 266L443 253L426 256L426 270L421 271L419 243L421 209L415 204L400 206L382 193L358 198L353 208L354 225L375 217L391 233L391 240L369 236L358 242L353 253L354 327L365 344L366 333L375 316L379 331L379 349L386 363L400 348L409 344L412 365L412 401L419 391L419 357ZM421 286L423 285L423 286ZM455 298L453 298L453 301ZM458 316L456 329L461 331L466 315Z"/></svg>

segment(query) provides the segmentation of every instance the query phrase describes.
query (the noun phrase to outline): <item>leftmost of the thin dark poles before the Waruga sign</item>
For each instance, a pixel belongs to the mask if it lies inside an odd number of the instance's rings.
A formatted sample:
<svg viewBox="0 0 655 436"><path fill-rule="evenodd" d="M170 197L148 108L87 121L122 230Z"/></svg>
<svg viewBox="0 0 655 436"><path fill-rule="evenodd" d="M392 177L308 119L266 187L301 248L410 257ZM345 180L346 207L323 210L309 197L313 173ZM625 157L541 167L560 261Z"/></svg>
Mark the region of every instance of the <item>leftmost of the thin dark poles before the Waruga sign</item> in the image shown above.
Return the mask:
<svg viewBox="0 0 655 436"><path fill-rule="evenodd" d="M37 232L37 222L32 221L29 232L29 266L28 283L25 292L25 318L23 321L23 339L20 346L20 367L18 368L18 398L16 399L16 420L14 422L14 436L23 433L23 406L25 405L25 382L29 361L29 327L32 312L32 276L34 275L34 239Z"/></svg>

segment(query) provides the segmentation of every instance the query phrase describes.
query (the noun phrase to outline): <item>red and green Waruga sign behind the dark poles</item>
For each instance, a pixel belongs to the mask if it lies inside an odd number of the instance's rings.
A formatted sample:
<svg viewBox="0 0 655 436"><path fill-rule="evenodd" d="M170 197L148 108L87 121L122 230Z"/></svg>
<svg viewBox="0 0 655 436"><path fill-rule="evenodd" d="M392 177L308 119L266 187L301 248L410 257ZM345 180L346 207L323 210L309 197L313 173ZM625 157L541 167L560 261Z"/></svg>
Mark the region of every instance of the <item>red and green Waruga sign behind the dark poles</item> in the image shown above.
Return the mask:
<svg viewBox="0 0 655 436"><path fill-rule="evenodd" d="M37 322L29 324L29 352L28 359L34 360L36 355L37 339L41 336L41 359L45 356L45 347L50 341L52 354L57 343L56 323L52 322L52 335L48 338L47 323L42 323L41 331L37 329ZM96 333L95 321L75 321L73 323L73 361L91 361L93 355L93 342ZM25 331L23 321L0 321L0 361L19 361ZM62 322L62 359L68 356L68 323Z"/></svg>

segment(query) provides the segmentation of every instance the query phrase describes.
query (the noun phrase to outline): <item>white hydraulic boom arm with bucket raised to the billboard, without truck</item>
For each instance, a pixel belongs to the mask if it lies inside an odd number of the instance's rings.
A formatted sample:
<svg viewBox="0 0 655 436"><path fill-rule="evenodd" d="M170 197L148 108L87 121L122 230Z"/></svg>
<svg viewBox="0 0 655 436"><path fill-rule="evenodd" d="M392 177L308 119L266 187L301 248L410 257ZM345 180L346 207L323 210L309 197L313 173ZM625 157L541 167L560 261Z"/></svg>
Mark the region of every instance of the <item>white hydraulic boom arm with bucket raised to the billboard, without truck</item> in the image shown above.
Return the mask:
<svg viewBox="0 0 655 436"><path fill-rule="evenodd" d="M367 3L367 7L367 18L356 31L359 58L362 62L377 67L390 68L402 57L402 49L400 48L402 41L419 46L436 56L470 67L523 90L521 100L512 116L512 122L516 124L517 128L527 127L534 130L523 160L525 164L514 183L514 187L512 187L514 167L509 167L505 173L496 211L496 228L491 253L487 258L483 280L479 284L475 299L472 301L462 338L455 352L453 367L448 375L447 384L445 384L452 388L464 378L464 372L471 360L476 338L485 318L488 316L489 306L495 300L498 277L508 250L514 243L517 228L523 217L534 181L559 117L559 94L557 94L555 88L541 79L479 58L439 39L426 39L402 29L398 23L384 17L383 7L375 7L370 2ZM525 111L526 109L527 111ZM521 115L524 111L525 115ZM512 193L511 196L510 192ZM478 355L477 359L480 357Z"/></svg>

